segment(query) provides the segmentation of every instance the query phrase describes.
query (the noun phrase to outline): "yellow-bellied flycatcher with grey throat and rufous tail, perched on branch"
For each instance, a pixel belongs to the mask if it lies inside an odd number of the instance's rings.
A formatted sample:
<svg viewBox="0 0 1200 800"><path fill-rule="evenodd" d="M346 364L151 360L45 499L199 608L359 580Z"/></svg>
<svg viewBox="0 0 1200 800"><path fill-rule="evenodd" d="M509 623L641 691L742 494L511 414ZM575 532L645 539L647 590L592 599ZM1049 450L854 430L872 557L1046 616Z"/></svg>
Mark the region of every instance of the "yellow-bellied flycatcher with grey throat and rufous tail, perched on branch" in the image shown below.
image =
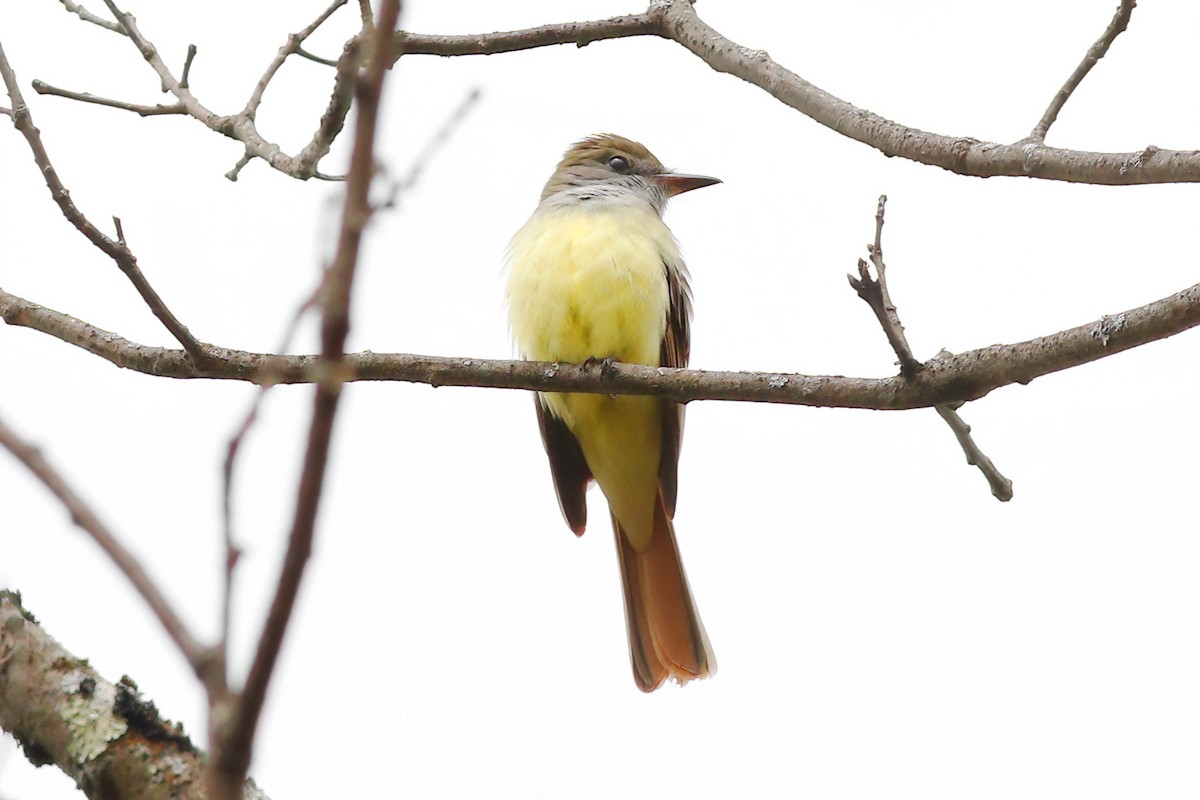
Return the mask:
<svg viewBox="0 0 1200 800"><path fill-rule="evenodd" d="M668 172L618 136L568 150L509 247L509 324L521 355L688 366L691 290L662 209L719 182ZM683 405L552 392L535 403L566 524L583 534L593 480L608 499L638 688L715 673L671 524Z"/></svg>

